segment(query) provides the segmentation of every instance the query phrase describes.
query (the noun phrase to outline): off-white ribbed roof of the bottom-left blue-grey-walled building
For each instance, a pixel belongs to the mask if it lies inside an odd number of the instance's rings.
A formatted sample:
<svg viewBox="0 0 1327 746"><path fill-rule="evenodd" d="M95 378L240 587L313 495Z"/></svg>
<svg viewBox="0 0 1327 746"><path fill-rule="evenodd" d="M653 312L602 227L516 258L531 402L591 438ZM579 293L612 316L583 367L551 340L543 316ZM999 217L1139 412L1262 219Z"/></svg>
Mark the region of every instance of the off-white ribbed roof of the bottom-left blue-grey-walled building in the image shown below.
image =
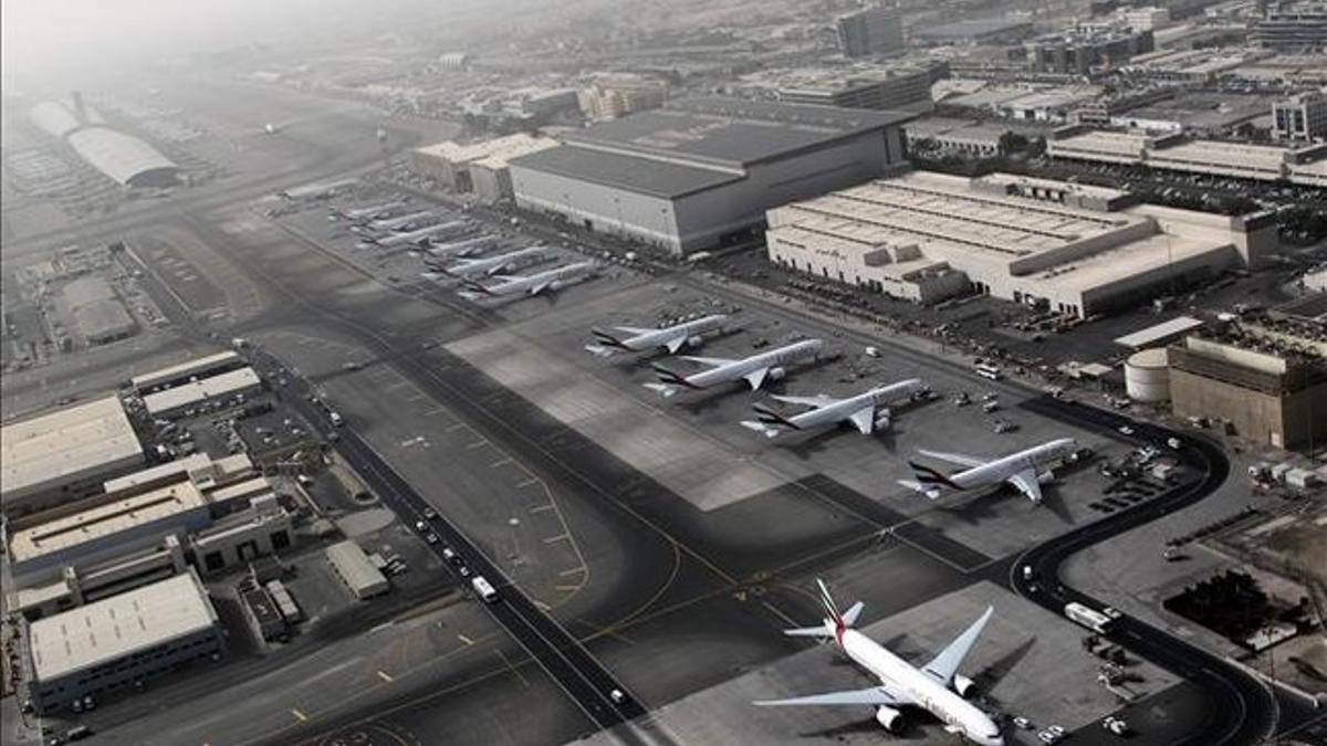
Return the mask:
<svg viewBox="0 0 1327 746"><path fill-rule="evenodd" d="M216 625L194 571L32 623L37 681L149 650Z"/></svg>

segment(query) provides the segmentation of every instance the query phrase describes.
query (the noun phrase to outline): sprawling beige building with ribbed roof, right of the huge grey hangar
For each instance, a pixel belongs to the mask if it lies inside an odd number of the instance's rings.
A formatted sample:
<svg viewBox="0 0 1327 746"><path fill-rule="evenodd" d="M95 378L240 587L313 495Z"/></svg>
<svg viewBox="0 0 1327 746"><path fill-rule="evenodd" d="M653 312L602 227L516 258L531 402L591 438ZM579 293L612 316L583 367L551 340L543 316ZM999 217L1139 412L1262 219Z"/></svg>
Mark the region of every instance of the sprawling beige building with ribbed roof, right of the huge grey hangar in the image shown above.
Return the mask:
<svg viewBox="0 0 1327 746"><path fill-rule="evenodd" d="M1275 251L1275 223L1128 192L912 173L770 211L771 261L922 304L969 289L1087 317Z"/></svg>

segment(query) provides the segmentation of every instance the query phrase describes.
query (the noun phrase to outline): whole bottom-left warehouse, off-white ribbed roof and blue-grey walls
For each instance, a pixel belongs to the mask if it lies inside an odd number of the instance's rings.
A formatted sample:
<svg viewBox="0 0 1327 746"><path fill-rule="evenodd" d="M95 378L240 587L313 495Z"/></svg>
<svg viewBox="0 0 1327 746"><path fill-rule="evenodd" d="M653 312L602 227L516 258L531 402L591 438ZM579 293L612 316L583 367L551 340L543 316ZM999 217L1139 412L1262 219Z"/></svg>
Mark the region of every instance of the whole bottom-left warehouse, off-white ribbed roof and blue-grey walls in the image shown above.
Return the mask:
<svg viewBox="0 0 1327 746"><path fill-rule="evenodd" d="M46 714L226 652L216 609L192 572L32 623L31 698Z"/></svg>

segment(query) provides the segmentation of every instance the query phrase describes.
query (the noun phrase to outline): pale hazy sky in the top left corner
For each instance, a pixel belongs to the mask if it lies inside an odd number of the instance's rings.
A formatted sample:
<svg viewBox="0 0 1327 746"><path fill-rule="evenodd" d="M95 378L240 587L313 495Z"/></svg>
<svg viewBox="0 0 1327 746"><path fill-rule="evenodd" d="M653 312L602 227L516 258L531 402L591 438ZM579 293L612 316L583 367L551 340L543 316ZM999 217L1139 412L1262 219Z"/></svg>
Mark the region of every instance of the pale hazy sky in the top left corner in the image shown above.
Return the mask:
<svg viewBox="0 0 1327 746"><path fill-rule="evenodd" d="M273 41L393 0L3 0L5 80L129 66L194 49ZM443 3L435 3L445 5ZM40 73L38 73L40 70Z"/></svg>

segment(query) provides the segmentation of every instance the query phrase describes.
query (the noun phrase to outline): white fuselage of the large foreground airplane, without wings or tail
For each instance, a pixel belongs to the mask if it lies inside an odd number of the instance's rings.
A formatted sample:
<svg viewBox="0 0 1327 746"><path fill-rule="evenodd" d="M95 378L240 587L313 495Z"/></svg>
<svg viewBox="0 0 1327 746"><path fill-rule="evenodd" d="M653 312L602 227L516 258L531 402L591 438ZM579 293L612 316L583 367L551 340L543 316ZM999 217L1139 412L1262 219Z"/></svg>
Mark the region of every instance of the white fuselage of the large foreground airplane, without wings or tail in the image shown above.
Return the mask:
<svg viewBox="0 0 1327 746"><path fill-rule="evenodd" d="M855 629L844 629L835 642L855 664L878 678L896 698L921 706L946 726L958 729L973 743L1003 746L999 727L986 713L871 637Z"/></svg>

